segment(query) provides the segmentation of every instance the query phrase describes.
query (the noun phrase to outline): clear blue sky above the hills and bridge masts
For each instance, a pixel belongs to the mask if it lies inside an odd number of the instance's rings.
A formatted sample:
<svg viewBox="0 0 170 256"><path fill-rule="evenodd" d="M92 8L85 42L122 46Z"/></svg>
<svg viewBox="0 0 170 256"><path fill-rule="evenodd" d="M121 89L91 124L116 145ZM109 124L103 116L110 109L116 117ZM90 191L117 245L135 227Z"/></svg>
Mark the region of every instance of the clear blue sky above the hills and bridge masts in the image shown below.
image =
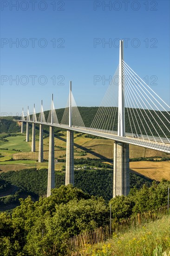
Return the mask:
<svg viewBox="0 0 170 256"><path fill-rule="evenodd" d="M18 7L12 6L17 2ZM105 6L109 2L111 6ZM129 38L124 48L124 61L141 78L148 76L150 87L169 103L170 2L127 1L127 7L124 1L119 3L37 0L33 10L29 0L24 3L1 0L0 112L16 115L22 107L26 110L27 105L32 112L33 103L39 112L41 99L47 110L52 93L55 108L63 108L70 80L78 106L99 106L109 82L103 85L100 81L95 85L94 76L107 79L114 74L119 54L115 39L123 38ZM34 47L30 38L34 38ZM40 40L42 38L45 40ZM94 47L95 38L102 42L111 39L111 45L99 43ZM54 39L56 47L53 47ZM17 47L12 44L16 40ZM139 42L139 47L132 46ZM33 75L36 76L34 85ZM157 85L150 84L152 75L157 76ZM11 81L16 76L19 84ZM40 76L46 77L45 85L42 85L43 77L38 81ZM53 85L51 77L54 76ZM63 78L64 85L61 85L59 81Z"/></svg>

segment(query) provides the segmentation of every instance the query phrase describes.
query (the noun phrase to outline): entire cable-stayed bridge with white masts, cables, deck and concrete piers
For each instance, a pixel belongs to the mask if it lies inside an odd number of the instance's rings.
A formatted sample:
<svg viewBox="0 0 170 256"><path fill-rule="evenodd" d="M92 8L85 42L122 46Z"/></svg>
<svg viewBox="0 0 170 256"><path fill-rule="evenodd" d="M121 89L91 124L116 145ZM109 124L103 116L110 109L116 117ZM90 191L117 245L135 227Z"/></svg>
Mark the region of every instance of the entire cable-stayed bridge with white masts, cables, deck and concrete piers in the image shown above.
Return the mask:
<svg viewBox="0 0 170 256"><path fill-rule="evenodd" d="M54 127L67 130L65 184L74 184L74 131L115 141L113 196L129 193L129 144L170 154L170 107L132 70L124 61L123 55L123 40L120 40L119 65L91 127L85 127L79 113L72 94L72 82L60 123L53 95L47 120L42 101L38 119L35 104L32 118L29 108L27 113L22 111L21 132L23 133L23 123L26 122L26 141L29 141L29 123L33 124L32 152L35 151L35 125L39 125L39 162L43 162L43 125L50 126L47 196L51 195L51 189L55 186Z"/></svg>

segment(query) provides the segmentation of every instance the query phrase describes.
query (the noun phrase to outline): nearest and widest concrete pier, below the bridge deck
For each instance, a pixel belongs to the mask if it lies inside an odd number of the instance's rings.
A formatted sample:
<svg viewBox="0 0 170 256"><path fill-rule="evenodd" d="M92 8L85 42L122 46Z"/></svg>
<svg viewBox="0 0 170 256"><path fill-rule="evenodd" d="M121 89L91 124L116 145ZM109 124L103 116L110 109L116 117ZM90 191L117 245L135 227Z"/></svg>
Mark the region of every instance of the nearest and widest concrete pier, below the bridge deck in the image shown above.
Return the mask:
<svg viewBox="0 0 170 256"><path fill-rule="evenodd" d="M130 191L129 144L115 141L113 157L113 197L128 195Z"/></svg>

